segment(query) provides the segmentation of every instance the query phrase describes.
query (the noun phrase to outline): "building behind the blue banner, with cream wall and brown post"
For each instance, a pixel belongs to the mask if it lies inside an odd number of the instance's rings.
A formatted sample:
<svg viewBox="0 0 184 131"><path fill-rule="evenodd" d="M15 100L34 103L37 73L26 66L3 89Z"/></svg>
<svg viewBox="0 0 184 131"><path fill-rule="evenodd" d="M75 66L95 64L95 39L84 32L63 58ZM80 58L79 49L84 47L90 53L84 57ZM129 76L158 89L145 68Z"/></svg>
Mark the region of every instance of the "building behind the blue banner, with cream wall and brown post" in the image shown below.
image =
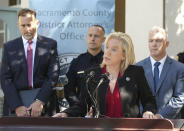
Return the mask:
<svg viewBox="0 0 184 131"><path fill-rule="evenodd" d="M170 56L175 58L183 51L184 0L115 0L115 3L115 30L132 37L137 61L149 55L147 38L154 25L167 29ZM29 8L29 0L0 1L0 48L19 35L17 11L24 7Z"/></svg>

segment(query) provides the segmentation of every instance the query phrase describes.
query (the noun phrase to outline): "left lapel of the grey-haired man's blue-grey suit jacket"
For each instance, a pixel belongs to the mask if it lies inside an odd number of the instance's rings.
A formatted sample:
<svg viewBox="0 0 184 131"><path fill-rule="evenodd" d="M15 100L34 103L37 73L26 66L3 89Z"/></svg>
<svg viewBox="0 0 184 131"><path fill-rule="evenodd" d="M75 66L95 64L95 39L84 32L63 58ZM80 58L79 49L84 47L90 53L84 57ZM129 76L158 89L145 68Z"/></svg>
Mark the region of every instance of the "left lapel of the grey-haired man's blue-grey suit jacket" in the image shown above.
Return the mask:
<svg viewBox="0 0 184 131"><path fill-rule="evenodd" d="M151 61L150 61L149 57L145 60L144 64L145 64L144 65L144 68L145 68L144 71L145 71L146 79L148 81L148 84L151 88L151 91L152 91L153 95L155 95L152 65L151 65Z"/></svg>

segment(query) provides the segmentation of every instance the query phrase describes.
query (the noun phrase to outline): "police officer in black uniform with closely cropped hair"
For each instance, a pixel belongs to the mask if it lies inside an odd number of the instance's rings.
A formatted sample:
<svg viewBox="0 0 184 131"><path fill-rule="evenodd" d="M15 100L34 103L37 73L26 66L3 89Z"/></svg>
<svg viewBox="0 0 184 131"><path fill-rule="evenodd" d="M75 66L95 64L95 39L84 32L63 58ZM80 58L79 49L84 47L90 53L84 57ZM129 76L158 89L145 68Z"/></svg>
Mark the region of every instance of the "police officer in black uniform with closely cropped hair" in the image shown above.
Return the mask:
<svg viewBox="0 0 184 131"><path fill-rule="evenodd" d="M64 94L70 106L79 101L78 96L82 85L85 83L82 75L78 74L94 65L99 65L103 59L102 43L105 40L105 30L100 25L89 28L86 41L87 52L73 59L66 76L68 83L64 86Z"/></svg>

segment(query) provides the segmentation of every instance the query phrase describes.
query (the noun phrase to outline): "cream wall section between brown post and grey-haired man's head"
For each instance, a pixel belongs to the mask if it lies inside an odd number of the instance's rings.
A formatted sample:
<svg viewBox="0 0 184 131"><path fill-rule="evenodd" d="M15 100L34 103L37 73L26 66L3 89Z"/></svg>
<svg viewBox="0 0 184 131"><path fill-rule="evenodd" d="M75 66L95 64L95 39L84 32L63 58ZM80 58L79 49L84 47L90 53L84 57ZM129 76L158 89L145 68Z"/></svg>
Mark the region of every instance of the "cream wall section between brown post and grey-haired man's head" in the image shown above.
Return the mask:
<svg viewBox="0 0 184 131"><path fill-rule="evenodd" d="M125 32L132 37L136 61L140 61L149 55L149 30L162 27L163 0L126 0L125 15Z"/></svg>

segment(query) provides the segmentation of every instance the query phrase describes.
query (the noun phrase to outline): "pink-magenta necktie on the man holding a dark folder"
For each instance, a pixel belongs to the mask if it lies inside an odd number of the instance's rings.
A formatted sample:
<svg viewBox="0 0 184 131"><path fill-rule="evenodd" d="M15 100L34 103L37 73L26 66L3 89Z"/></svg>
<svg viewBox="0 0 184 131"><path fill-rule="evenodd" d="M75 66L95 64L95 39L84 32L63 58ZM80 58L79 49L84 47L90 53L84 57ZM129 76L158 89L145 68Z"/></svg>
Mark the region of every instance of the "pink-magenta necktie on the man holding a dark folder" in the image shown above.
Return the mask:
<svg viewBox="0 0 184 131"><path fill-rule="evenodd" d="M32 41L28 41L27 47L27 69L28 69L28 86L32 89L32 62L33 62L33 49L31 47Z"/></svg>

